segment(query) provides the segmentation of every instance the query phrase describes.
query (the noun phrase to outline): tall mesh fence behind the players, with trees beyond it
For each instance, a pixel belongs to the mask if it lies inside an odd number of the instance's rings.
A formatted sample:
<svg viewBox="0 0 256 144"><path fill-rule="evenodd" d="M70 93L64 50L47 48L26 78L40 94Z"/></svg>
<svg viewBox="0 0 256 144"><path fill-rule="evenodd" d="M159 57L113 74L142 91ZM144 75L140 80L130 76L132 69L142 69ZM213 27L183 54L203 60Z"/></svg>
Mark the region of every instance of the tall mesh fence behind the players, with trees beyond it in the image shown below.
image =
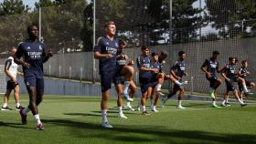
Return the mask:
<svg viewBox="0 0 256 144"><path fill-rule="evenodd" d="M90 3L91 2L91 3ZM208 81L200 70L213 50L220 52L220 67L228 57L249 60L251 80L256 80L256 2L252 0L94 0L42 5L42 40L55 56L45 64L48 77L100 81L98 60L93 62L93 2L95 39L104 36L104 23L113 20L117 38L127 43L125 51L135 59L140 46L166 50L169 71L179 50L187 53L189 91L208 92ZM38 7L27 14L0 16L0 53L27 37L26 27L38 24ZM38 25L39 26L39 25ZM93 69L96 67L96 69ZM238 66L240 67L240 65ZM96 75L94 75L96 74ZM219 76L220 77L220 76ZM138 81L138 75L134 80ZM165 82L169 88L169 82ZM220 91L225 90L225 84Z"/></svg>

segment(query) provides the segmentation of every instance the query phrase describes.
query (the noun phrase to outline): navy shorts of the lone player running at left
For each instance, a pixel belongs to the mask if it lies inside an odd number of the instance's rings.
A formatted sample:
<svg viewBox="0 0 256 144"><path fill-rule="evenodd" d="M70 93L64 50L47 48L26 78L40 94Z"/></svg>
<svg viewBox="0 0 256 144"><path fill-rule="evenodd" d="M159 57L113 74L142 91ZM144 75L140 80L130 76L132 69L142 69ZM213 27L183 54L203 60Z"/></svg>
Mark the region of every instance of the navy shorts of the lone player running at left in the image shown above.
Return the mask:
<svg viewBox="0 0 256 144"><path fill-rule="evenodd" d="M44 89L45 89L44 78L25 77L24 81L25 81L25 85L27 87L27 90L30 87L36 87L37 92L44 92Z"/></svg>

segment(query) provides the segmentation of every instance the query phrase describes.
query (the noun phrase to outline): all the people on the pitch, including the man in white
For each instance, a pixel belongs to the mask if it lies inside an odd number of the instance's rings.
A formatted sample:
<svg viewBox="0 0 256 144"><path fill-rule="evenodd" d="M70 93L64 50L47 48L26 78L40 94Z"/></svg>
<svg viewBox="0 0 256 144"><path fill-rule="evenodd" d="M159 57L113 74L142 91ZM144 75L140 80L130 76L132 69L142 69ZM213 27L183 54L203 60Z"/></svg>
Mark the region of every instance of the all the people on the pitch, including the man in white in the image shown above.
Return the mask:
<svg viewBox="0 0 256 144"><path fill-rule="evenodd" d="M123 114L123 98L126 99L125 108L134 110L131 106L133 102L133 96L135 94L136 86L133 82L134 68L132 67L134 61L124 54L125 42L123 40L117 40L114 38L116 33L116 27L114 22L110 21L105 24L106 36L101 36L97 40L97 44L94 47L94 58L99 59L99 71L101 76L101 116L102 127L112 128L112 125L107 119L107 102L110 98L110 89L112 82L116 87L118 94L117 106L118 116L120 118L127 118ZM7 110L7 101L11 91L15 90L16 96L16 109L19 110L21 121L23 124L27 124L27 113L32 112L37 122L37 130L43 130L44 126L40 121L38 114L38 105L43 100L44 95L44 73L43 63L48 61L49 57L52 57L52 52L49 49L48 53L45 50L45 46L38 40L37 26L27 27L28 39L19 44L18 48L12 48L12 55L8 57L5 62L5 73L8 77L6 93L4 97L4 105L2 110ZM139 70L139 82L142 92L142 97L139 100L137 109L142 108L143 115L149 115L146 110L146 101L150 99L150 110L158 112L156 109L159 99L162 101L162 105L178 93L177 108L184 108L182 106L182 98L184 96L184 85L187 85L187 80L182 80L182 77L187 77L186 72L186 53L184 51L178 52L178 60L170 68L167 73L164 72L163 66L165 65L165 52L150 54L149 46L141 47L142 54L136 58L136 65ZM244 107L247 104L243 102L243 95L250 95L250 89L255 87L255 84L247 79L250 72L247 70L248 61L242 60L242 67L239 72L236 70L237 58L229 57L228 64L219 68L219 52L214 51L212 57L209 57L203 63L201 70L206 73L206 77L210 83L209 95L213 99L212 107L219 108L216 104L217 100L217 88L221 84L221 79L218 77L218 73L221 73L225 78L227 84L227 92L222 102L223 107L229 107L229 92L233 92L235 98L240 102L240 106ZM22 65L23 73L17 72L17 65ZM17 84L16 74L24 76L27 92L29 95L29 105L27 108L20 106L18 99L19 87ZM165 80L170 80L175 85L172 92L165 96L161 93L161 87ZM238 88L234 83L238 83ZM238 91L239 89L239 91ZM155 98L154 98L155 96Z"/></svg>

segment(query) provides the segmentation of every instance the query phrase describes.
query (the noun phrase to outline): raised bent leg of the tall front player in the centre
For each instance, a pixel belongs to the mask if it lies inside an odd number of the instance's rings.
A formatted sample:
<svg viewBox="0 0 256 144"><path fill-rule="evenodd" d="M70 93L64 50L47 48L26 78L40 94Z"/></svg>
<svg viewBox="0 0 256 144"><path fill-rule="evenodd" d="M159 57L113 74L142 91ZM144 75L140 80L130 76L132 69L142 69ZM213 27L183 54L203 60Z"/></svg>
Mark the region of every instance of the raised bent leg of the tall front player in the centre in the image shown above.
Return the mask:
<svg viewBox="0 0 256 144"><path fill-rule="evenodd" d="M124 76L123 97L127 98L128 101L133 101L133 98L130 98L129 96L128 88L130 86L131 81L133 80L134 68L131 66L124 66L122 68L121 73Z"/></svg>

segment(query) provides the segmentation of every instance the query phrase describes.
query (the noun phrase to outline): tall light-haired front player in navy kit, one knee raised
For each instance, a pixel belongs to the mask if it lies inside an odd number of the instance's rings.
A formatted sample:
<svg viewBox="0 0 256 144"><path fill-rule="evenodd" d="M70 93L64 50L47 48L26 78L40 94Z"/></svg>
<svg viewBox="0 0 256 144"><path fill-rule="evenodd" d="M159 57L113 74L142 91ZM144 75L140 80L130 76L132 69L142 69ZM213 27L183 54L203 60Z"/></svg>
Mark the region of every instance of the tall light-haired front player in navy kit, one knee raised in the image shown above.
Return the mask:
<svg viewBox="0 0 256 144"><path fill-rule="evenodd" d="M107 119L107 102L110 98L110 89L112 87L112 81L116 74L116 55L119 48L118 40L114 38L116 33L116 26L114 22L109 21L105 24L106 36L101 36L97 40L97 44L94 47L94 58L99 59L99 69L101 75L101 116L102 127L112 128L112 125ZM133 77L131 71L124 68L124 75L127 77ZM132 79L132 78L131 78ZM127 80L127 79L125 79ZM125 95L127 96L127 95ZM129 97L129 95L128 95ZM133 99L127 98L127 100L133 101Z"/></svg>

